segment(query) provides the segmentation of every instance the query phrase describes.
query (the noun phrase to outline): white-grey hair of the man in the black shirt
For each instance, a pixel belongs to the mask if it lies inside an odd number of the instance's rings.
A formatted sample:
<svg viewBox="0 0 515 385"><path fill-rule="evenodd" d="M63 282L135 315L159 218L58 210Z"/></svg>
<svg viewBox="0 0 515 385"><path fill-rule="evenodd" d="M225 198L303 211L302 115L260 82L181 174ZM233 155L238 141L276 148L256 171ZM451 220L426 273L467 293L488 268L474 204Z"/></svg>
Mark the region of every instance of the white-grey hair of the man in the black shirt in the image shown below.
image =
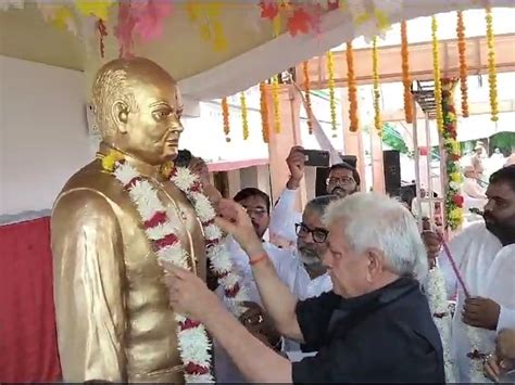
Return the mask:
<svg viewBox="0 0 515 385"><path fill-rule="evenodd" d="M355 193L327 208L326 226L340 219L346 222L343 234L354 252L379 249L391 272L424 281L426 248L415 219L398 201L376 193Z"/></svg>

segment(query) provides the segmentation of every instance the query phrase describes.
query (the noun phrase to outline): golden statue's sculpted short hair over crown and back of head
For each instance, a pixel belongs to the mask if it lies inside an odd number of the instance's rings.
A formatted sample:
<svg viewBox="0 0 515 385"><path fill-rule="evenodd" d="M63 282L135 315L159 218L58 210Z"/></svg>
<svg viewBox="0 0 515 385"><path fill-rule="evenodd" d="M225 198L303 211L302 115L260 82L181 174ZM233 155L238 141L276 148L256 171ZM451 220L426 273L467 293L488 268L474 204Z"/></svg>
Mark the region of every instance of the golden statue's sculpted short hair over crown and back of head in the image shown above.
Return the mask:
<svg viewBox="0 0 515 385"><path fill-rule="evenodd" d="M125 104L128 113L136 113L139 106L135 94L142 88L164 85L175 88L176 82L165 69L148 59L116 59L104 64L97 73L92 89L95 114L104 141L111 142L116 131L113 112L117 103Z"/></svg>

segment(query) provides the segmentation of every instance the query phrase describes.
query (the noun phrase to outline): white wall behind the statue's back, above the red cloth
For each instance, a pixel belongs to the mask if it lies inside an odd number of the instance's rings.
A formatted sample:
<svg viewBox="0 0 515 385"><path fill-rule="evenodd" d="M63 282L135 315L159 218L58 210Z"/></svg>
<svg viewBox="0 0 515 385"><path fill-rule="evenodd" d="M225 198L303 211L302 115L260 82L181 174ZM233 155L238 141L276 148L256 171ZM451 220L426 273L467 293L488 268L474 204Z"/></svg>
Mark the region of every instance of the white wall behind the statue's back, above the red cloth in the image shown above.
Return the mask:
<svg viewBox="0 0 515 385"><path fill-rule="evenodd" d="M0 55L0 215L51 208L95 155L83 73Z"/></svg>

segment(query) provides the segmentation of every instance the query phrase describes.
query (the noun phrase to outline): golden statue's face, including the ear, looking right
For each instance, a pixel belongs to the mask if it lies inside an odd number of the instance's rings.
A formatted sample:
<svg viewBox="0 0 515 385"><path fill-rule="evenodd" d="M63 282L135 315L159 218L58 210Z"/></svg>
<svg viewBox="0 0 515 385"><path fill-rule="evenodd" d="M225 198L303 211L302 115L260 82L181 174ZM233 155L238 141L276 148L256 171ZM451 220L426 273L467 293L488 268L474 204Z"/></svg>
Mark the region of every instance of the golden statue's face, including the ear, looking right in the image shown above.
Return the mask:
<svg viewBox="0 0 515 385"><path fill-rule="evenodd" d="M130 79L135 108L121 117L117 146L152 165L174 159L178 153L183 105L167 74L143 74Z"/></svg>

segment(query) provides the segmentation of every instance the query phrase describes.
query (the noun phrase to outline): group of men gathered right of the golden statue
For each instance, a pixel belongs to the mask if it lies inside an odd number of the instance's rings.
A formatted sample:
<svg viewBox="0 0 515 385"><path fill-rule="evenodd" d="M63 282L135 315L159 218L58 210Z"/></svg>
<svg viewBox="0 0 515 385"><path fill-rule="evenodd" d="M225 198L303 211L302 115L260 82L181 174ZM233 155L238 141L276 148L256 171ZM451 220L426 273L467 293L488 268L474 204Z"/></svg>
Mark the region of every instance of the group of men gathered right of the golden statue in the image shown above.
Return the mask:
<svg viewBox="0 0 515 385"><path fill-rule="evenodd" d="M217 381L444 382L439 315L424 287L429 266L457 300L449 342L456 381L476 382L478 371L479 381L500 381L515 369L515 166L490 177L485 220L442 251L441 236L420 234L400 202L361 193L346 163L330 168L327 195L296 211L304 158L291 150L275 207L255 188L219 200L217 224L249 292L239 320L222 292L168 267L173 306L214 337Z"/></svg>

